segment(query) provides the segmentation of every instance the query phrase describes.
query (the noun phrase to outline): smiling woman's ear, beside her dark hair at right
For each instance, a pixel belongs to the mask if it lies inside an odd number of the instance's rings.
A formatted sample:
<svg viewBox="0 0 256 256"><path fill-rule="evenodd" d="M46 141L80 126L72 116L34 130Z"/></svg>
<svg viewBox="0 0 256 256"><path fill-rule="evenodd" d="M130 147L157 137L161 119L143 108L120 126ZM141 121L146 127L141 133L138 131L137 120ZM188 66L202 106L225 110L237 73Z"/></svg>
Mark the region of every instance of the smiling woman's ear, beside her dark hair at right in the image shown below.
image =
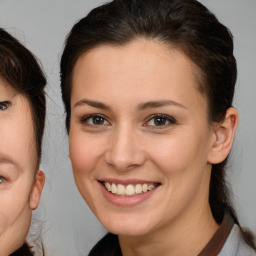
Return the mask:
<svg viewBox="0 0 256 256"><path fill-rule="evenodd" d="M226 116L221 123L214 127L214 141L208 162L211 164L221 163L228 156L238 125L238 112L235 108L229 108L226 111Z"/></svg>

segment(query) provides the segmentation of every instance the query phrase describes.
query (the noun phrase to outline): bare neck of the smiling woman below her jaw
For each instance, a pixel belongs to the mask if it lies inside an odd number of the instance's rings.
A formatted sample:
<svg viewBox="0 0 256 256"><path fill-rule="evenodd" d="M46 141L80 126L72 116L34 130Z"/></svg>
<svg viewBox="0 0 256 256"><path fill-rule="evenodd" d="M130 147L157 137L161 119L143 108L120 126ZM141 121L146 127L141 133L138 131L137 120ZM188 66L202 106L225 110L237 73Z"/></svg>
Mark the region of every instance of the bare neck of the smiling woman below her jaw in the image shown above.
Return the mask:
<svg viewBox="0 0 256 256"><path fill-rule="evenodd" d="M119 236L119 242L123 256L198 255L217 229L218 224L207 205L205 209L198 209L193 218L180 216L145 236Z"/></svg>

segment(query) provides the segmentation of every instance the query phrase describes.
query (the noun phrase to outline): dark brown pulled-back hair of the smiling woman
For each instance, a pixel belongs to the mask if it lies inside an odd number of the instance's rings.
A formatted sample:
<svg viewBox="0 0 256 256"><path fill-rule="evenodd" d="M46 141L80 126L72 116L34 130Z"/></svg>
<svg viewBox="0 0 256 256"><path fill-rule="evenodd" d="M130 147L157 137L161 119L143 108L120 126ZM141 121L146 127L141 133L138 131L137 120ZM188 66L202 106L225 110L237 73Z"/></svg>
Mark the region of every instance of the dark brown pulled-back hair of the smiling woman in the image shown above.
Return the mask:
<svg viewBox="0 0 256 256"><path fill-rule="evenodd" d="M198 68L198 89L208 101L209 123L223 120L232 106L237 78L228 28L196 0L114 0L93 9L66 39L60 75L68 131L72 74L78 58L99 45L126 45L137 38L157 40L184 52ZM218 223L226 206L232 209L225 181L226 160L213 165L210 182L209 202ZM243 235L255 248L252 238Z"/></svg>

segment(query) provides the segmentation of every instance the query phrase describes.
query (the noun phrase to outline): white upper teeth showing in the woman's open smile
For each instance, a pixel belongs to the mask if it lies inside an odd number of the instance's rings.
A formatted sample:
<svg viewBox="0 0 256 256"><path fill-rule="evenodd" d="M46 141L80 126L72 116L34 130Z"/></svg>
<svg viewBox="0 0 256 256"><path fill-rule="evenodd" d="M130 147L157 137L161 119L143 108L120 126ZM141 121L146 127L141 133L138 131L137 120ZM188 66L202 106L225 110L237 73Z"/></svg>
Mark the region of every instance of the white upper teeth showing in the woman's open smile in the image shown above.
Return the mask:
<svg viewBox="0 0 256 256"><path fill-rule="evenodd" d="M109 182L104 182L104 185L106 189L111 192L112 194L119 195L119 196L133 196L133 195L138 195L142 193L146 193L147 191L150 191L156 187L156 184L128 184L128 185L123 185L123 184L115 184L115 183L109 183Z"/></svg>

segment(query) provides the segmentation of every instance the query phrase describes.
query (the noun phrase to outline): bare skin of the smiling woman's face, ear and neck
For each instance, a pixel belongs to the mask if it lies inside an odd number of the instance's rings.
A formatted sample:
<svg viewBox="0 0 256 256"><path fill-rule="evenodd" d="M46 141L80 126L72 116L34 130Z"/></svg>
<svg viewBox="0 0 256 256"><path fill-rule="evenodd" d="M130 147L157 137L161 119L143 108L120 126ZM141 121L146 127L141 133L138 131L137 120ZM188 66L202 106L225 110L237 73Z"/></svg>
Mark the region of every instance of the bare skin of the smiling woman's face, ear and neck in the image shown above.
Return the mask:
<svg viewBox="0 0 256 256"><path fill-rule="evenodd" d="M119 235L123 255L197 255L218 228L208 203L211 164L227 156L237 112L209 124L196 72L182 52L146 39L99 46L75 65L74 177L94 214ZM160 185L127 205L127 197L107 200L99 181Z"/></svg>

